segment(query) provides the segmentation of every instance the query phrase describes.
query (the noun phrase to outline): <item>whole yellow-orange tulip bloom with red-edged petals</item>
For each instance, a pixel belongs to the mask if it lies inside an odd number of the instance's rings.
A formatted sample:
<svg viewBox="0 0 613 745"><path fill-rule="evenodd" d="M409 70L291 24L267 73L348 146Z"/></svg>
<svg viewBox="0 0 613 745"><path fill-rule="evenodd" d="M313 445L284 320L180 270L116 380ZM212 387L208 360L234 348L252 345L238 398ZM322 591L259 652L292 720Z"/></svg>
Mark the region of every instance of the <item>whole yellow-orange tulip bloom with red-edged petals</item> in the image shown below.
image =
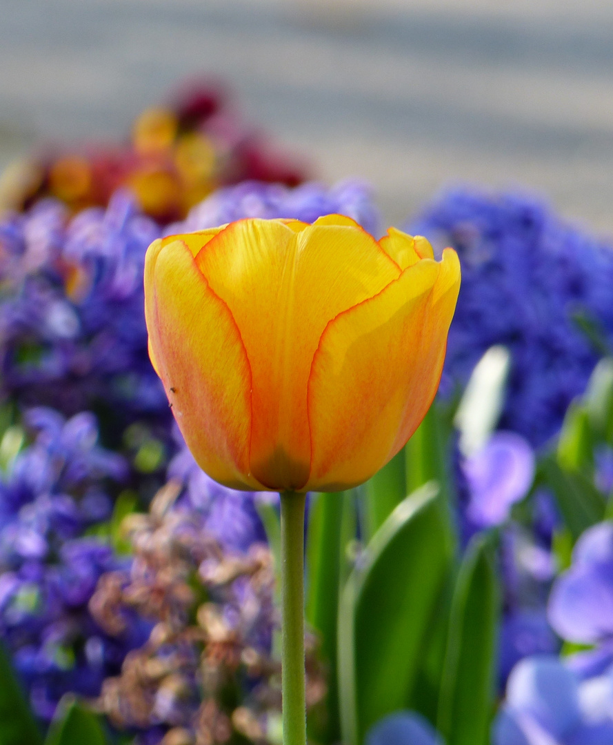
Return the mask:
<svg viewBox="0 0 613 745"><path fill-rule="evenodd" d="M248 219L154 241L144 288L150 358L200 467L236 489L336 491L430 407L460 264L341 215Z"/></svg>

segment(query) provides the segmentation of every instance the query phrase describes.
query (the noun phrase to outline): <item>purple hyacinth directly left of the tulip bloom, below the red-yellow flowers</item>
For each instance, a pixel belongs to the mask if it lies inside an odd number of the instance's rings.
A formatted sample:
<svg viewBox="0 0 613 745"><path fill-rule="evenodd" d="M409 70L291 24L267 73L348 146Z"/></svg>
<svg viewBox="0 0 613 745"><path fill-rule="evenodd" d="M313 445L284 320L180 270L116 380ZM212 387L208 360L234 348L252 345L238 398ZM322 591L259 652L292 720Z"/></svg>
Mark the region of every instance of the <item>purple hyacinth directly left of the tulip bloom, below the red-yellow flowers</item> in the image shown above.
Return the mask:
<svg viewBox="0 0 613 745"><path fill-rule="evenodd" d="M113 408L168 418L147 356L144 252L159 235L132 197L70 219L53 200L0 222L5 394L65 413Z"/></svg>

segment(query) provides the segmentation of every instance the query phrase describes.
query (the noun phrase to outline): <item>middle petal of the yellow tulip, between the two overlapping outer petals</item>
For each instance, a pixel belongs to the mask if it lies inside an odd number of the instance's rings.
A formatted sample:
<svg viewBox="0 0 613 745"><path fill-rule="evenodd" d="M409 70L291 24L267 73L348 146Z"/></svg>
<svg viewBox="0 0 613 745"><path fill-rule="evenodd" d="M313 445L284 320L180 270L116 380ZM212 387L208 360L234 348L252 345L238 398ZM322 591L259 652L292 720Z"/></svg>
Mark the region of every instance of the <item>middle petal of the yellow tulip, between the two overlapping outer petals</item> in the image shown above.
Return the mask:
<svg viewBox="0 0 613 745"><path fill-rule="evenodd" d="M196 257L241 329L253 384L251 471L269 488L308 479L307 384L326 324L399 275L375 239L346 221L238 221Z"/></svg>

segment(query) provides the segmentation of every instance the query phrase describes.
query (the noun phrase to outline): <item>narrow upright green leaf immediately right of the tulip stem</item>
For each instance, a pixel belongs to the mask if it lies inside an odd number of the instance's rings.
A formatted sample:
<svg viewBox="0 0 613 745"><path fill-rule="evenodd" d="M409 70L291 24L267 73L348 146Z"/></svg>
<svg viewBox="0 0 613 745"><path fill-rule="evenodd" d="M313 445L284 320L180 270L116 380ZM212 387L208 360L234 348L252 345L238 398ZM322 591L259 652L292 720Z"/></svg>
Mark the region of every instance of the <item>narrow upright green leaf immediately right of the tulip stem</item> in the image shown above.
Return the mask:
<svg viewBox="0 0 613 745"><path fill-rule="evenodd" d="M306 618L320 635L320 653L328 670L325 706L310 717L309 729L320 743L340 740L337 690L337 626L340 587L346 573L346 545L355 536L352 492L311 494L306 548Z"/></svg>

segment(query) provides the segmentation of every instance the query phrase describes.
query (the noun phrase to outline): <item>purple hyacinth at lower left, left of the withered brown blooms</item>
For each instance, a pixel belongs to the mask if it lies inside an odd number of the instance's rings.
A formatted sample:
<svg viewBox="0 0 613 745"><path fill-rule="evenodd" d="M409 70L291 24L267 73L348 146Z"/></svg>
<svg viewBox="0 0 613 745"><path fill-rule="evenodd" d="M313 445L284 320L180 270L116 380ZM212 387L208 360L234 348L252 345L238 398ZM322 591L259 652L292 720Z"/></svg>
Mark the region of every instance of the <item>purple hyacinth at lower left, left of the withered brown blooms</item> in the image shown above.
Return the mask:
<svg viewBox="0 0 613 745"><path fill-rule="evenodd" d="M67 691L97 695L146 637L143 624L122 638L105 634L87 607L101 574L121 562L85 533L109 518L127 463L98 445L89 412L64 419L34 408L24 424L34 440L0 481L0 635L48 720Z"/></svg>

